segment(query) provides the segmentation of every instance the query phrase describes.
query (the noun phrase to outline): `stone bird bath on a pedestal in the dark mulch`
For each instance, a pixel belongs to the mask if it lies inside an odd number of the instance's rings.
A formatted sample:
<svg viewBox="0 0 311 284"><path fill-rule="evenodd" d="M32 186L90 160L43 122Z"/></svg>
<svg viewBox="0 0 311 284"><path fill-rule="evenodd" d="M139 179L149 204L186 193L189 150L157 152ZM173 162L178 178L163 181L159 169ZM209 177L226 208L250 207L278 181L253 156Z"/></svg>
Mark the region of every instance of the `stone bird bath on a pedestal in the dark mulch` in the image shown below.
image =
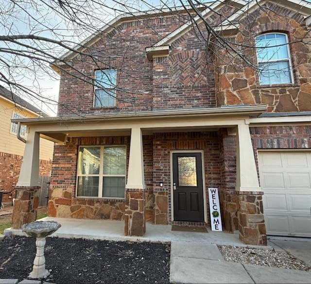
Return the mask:
<svg viewBox="0 0 311 284"><path fill-rule="evenodd" d="M44 246L45 238L57 231L61 225L56 221L35 221L25 224L22 231L31 237L36 237L36 254L34 260L33 271L29 273L28 278L38 279L46 278L50 272L45 269Z"/></svg>

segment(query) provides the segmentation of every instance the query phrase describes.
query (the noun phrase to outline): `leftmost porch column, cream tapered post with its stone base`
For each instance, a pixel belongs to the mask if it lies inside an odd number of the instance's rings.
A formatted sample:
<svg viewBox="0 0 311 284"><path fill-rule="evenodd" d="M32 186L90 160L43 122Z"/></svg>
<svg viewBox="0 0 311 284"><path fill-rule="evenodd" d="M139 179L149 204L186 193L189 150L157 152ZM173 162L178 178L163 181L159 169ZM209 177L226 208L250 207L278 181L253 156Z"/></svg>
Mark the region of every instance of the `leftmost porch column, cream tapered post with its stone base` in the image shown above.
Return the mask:
<svg viewBox="0 0 311 284"><path fill-rule="evenodd" d="M12 229L35 221L39 203L39 133L30 129L15 190Z"/></svg>

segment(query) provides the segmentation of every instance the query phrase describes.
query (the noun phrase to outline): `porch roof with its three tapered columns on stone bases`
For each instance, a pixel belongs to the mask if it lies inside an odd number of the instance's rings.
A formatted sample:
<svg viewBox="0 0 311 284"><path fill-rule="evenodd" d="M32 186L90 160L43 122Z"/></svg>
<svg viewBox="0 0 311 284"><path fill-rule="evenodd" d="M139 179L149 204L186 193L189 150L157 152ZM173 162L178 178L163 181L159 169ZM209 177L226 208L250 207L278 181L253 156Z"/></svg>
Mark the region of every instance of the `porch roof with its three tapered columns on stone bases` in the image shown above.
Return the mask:
<svg viewBox="0 0 311 284"><path fill-rule="evenodd" d="M254 203L255 200L257 202L257 195L261 195L248 124L250 117L258 116L263 110L265 110L265 106L230 106L125 114L111 113L85 116L83 119L81 117L70 116L16 120L14 122L27 124L28 136L17 183L18 194L13 213L12 228L20 229L23 224L35 220L40 136L61 145L60 147L63 148L64 153L67 151L66 144L73 138L75 141L78 141L76 138L79 137L129 137L125 198L124 201L121 200L125 206L123 233L125 236L143 236L146 235L146 225L149 225L145 220L146 185L144 163L146 160L144 161L143 136L159 132L208 132L215 131L215 129L226 129L231 133L230 135L236 136L237 170L235 191L236 195L238 195L236 202L239 203L239 212L236 216L239 221L239 237L243 243L265 244L264 230L256 224L259 222L262 223L263 212L260 212L260 210L259 212L254 212L253 207L257 205L251 204L249 206L251 209L248 207L249 203ZM77 142L74 145L69 145L69 147L75 147L75 151L77 151L78 145L79 143ZM58 153L57 155L59 156L60 154ZM64 158L64 164L72 163L70 157ZM72 172L72 169L71 166L69 172ZM169 177L167 178L170 180ZM57 183L57 188L52 188L52 190L60 192L58 204L62 207L67 206L68 209L66 210L69 210L69 214L71 210L69 206L73 207L74 204L77 204L81 200L85 203L88 202L87 197L76 197L74 183L75 180L71 178L71 189L68 190L68 185L64 179L62 183ZM156 187L157 184L153 184L152 186ZM172 190L172 180L167 186L168 190ZM208 184L205 187L207 188ZM64 192L66 196L63 195ZM225 200L229 195L221 195L224 199L221 202L229 201ZM94 199L90 202L93 201ZM104 202L104 198L97 198L96 202ZM254 216L255 214L256 216ZM57 214L52 216L56 217ZM227 220L230 218L228 216L228 214L226 216L222 215L222 218ZM85 213L84 215L77 214L75 217L70 217L87 218ZM224 227L230 228L230 226Z"/></svg>

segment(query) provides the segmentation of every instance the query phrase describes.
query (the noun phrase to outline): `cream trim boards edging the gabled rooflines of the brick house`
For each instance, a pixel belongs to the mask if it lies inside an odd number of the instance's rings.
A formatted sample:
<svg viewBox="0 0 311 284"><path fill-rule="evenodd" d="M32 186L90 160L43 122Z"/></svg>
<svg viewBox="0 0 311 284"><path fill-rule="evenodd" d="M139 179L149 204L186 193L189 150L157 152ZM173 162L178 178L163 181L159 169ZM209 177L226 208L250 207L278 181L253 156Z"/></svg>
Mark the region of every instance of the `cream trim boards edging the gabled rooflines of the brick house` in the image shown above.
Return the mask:
<svg viewBox="0 0 311 284"><path fill-rule="evenodd" d="M239 19L245 17L245 15L247 15L249 11L254 10L256 8L256 5L259 5L262 2L266 1L276 3L279 6L287 7L290 10L301 13L306 18L307 25L311 24L311 3L306 0L214 0L205 4L203 3L201 6L198 7L198 10L201 11L200 17L196 16L193 19L190 19L178 29L156 42L153 46L146 47L147 56L149 59L151 59L154 54L169 53L170 44L178 39L180 36L187 33L192 28L194 21L197 24L202 22L202 16L204 18L208 18L211 13L213 13L214 11L217 12L227 3L230 3L230 5L234 5L235 7L237 7L238 11L231 15L229 18L225 19L222 23L220 23L218 27L215 28L216 32L224 32L237 29L237 26L234 23L237 23ZM135 19L158 17L160 15L170 15L172 11L185 14L187 13L186 9L189 9L188 11L193 11L190 6L181 6L160 10L149 10L144 12L121 14L105 24L96 33L88 36L84 41L82 41L79 45L75 46L72 50L63 54L60 60L56 60L54 64L51 65L51 67L54 71L57 71L57 65L66 65L64 61L73 59L78 54L75 53L74 50L83 51L88 46L91 46L97 40L99 40L101 34L110 32L112 29L114 29L123 22L132 21Z"/></svg>

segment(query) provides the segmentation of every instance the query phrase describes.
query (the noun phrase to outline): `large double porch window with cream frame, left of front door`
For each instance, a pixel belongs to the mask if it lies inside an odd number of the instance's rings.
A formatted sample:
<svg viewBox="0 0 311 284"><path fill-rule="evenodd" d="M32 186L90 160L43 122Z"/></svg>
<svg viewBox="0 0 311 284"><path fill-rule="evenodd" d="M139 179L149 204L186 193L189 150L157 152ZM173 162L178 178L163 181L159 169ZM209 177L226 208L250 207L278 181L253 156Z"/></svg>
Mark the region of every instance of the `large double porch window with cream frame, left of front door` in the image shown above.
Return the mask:
<svg viewBox="0 0 311 284"><path fill-rule="evenodd" d="M81 146L76 196L124 198L125 171L125 146Z"/></svg>

